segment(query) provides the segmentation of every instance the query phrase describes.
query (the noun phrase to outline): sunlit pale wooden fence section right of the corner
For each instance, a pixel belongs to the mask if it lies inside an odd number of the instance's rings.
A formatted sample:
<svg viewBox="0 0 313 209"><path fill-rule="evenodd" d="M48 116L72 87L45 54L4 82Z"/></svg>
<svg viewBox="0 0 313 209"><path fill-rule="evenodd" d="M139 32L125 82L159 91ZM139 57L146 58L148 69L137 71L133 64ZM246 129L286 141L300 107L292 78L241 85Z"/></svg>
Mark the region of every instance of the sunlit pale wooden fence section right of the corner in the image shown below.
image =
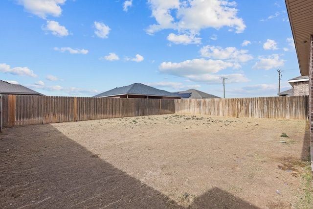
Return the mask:
<svg viewBox="0 0 313 209"><path fill-rule="evenodd" d="M308 111L309 96L175 100L179 114L307 119Z"/></svg>

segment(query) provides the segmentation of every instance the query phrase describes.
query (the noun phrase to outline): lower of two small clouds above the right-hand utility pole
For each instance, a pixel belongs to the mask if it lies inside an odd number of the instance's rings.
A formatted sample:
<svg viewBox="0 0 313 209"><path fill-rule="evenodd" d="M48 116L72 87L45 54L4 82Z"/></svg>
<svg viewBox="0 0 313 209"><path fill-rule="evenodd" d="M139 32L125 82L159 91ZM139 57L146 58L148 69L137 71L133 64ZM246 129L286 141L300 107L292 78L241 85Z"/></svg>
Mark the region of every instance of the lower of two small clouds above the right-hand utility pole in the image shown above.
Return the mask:
<svg viewBox="0 0 313 209"><path fill-rule="evenodd" d="M258 62L252 67L252 69L264 69L269 70L272 68L282 67L286 60L280 59L278 54L272 54L268 57L259 56Z"/></svg>

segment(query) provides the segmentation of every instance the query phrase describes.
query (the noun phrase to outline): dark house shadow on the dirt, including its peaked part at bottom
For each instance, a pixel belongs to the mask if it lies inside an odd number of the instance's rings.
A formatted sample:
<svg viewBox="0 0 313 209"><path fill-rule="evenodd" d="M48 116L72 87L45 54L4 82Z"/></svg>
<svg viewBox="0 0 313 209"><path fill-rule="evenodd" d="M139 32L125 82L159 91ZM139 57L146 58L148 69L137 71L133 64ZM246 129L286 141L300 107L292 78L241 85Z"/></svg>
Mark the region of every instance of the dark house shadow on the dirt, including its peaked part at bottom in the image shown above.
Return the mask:
<svg viewBox="0 0 313 209"><path fill-rule="evenodd" d="M49 124L0 135L0 208L183 208L101 160ZM219 188L188 209L257 209Z"/></svg>

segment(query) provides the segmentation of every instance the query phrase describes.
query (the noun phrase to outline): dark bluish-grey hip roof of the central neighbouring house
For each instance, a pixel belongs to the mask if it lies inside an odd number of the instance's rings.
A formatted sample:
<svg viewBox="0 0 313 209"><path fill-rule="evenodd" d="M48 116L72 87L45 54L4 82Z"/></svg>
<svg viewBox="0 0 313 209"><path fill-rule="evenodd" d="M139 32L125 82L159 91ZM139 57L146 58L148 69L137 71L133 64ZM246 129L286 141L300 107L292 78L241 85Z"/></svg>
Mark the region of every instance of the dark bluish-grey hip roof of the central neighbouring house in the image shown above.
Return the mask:
<svg viewBox="0 0 313 209"><path fill-rule="evenodd" d="M118 95L148 95L148 96L167 96L167 97L177 97L180 96L177 93L170 93L164 90L159 90L151 86L147 86L141 83L133 83L129 86L123 86L109 90L107 92L99 93L93 97L108 97L108 96L118 96Z"/></svg>

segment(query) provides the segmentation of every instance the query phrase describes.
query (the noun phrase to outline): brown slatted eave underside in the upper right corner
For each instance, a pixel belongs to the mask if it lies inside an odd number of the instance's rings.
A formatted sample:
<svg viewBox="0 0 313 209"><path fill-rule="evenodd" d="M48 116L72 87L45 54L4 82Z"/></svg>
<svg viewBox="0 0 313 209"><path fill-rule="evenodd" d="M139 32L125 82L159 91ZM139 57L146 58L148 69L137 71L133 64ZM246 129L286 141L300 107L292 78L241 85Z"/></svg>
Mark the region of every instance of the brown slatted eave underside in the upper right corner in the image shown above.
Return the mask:
<svg viewBox="0 0 313 209"><path fill-rule="evenodd" d="M285 0L301 75L309 75L313 0Z"/></svg>

